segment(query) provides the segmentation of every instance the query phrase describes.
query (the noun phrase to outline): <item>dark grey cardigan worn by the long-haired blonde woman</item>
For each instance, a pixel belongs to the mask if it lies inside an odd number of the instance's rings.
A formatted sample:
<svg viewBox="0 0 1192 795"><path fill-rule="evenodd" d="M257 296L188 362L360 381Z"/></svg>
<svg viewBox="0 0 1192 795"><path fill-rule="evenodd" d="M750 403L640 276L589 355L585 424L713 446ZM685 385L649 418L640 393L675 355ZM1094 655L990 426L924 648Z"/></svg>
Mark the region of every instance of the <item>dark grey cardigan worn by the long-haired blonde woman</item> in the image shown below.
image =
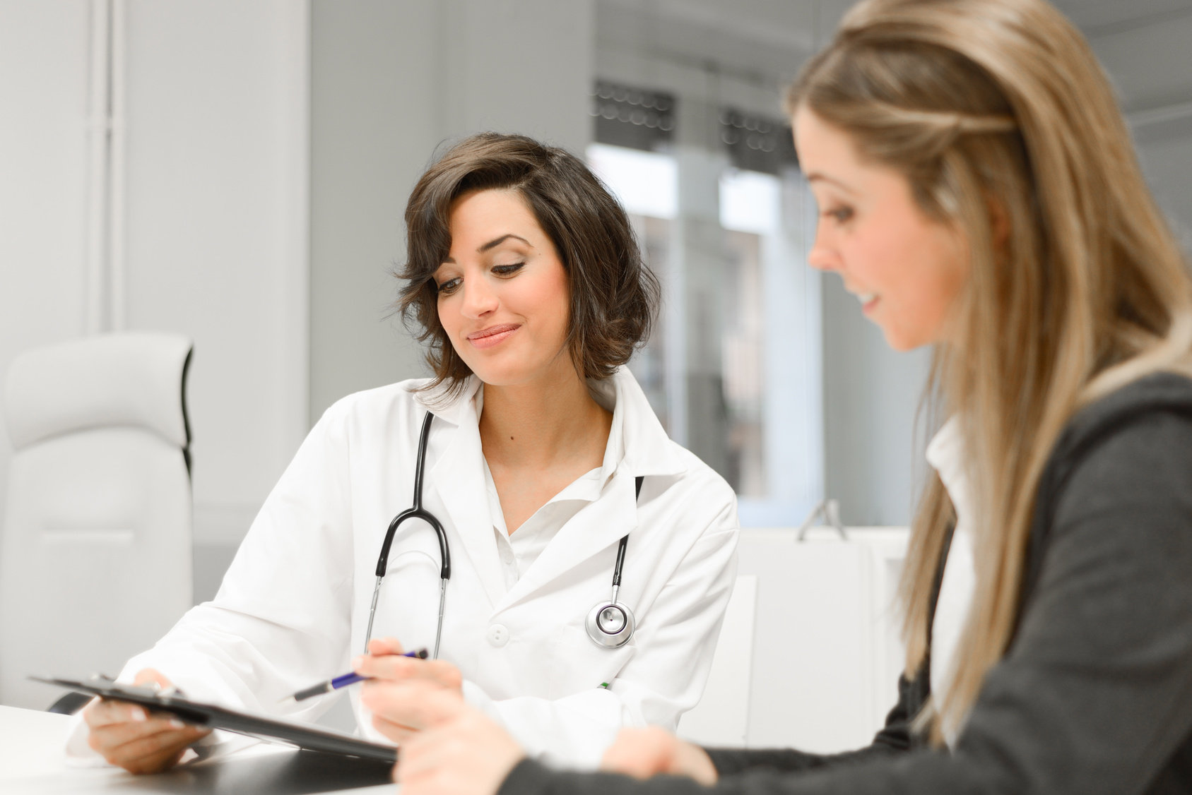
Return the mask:
<svg viewBox="0 0 1192 795"><path fill-rule="evenodd" d="M927 666L899 685L873 745L830 756L713 749L713 789L1192 793L1192 380L1143 378L1068 423L1039 483L1014 636L951 753L909 729L931 691ZM688 778L639 782L527 760L499 795L700 791Z"/></svg>

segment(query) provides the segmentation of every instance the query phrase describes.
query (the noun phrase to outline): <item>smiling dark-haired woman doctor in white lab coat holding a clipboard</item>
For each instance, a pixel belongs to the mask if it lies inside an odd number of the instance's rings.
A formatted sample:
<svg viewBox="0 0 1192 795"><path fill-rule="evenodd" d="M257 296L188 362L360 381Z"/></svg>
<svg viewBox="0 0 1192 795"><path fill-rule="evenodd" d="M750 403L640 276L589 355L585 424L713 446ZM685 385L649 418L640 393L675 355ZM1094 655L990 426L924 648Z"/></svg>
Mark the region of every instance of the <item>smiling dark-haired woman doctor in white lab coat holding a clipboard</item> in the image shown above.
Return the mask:
<svg viewBox="0 0 1192 795"><path fill-rule="evenodd" d="M623 210L579 160L520 136L473 136L423 175L406 226L401 306L429 342L435 378L328 409L215 601L122 678L256 712L325 712L337 696L281 700L364 651L378 553L414 502L429 411L422 504L451 549L440 662L402 658L385 672L460 687L533 756L595 766L622 726L675 727L699 701L733 583L733 492L668 439L623 367L658 286ZM610 598L627 534L616 601L637 628L608 648L585 619ZM374 659L434 647L439 596L436 534L406 522L372 628L396 640L374 641ZM358 690L358 723L380 739ZM131 704L83 714L70 752L137 772L176 763L201 738Z"/></svg>

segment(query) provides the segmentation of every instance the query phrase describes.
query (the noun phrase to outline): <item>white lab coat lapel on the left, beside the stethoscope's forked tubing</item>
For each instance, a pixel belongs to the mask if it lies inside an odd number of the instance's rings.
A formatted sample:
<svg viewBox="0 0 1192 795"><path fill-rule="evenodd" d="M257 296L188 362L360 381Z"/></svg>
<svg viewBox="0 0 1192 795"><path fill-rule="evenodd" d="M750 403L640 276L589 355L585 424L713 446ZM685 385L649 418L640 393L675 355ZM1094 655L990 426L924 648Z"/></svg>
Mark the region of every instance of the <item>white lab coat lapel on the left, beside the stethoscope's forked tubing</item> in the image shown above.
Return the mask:
<svg viewBox="0 0 1192 795"><path fill-rule="evenodd" d="M497 539L492 532L484 485L484 449L472 399L476 386L473 384L472 389L465 390L459 403L435 411L436 416L455 423L457 428L429 474L430 484L447 508L489 601L497 604L505 595L505 579L497 557Z"/></svg>

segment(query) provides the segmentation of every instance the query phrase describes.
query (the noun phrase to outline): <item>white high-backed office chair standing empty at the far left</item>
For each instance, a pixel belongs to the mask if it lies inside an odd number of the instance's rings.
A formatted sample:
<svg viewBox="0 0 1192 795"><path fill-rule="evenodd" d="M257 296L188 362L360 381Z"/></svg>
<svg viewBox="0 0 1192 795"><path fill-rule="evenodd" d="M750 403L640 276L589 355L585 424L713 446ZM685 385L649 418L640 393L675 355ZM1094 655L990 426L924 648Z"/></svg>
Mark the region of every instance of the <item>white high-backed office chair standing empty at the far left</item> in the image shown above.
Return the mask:
<svg viewBox="0 0 1192 795"><path fill-rule="evenodd" d="M61 695L30 675L114 676L191 607L191 347L111 334L10 367L0 703Z"/></svg>

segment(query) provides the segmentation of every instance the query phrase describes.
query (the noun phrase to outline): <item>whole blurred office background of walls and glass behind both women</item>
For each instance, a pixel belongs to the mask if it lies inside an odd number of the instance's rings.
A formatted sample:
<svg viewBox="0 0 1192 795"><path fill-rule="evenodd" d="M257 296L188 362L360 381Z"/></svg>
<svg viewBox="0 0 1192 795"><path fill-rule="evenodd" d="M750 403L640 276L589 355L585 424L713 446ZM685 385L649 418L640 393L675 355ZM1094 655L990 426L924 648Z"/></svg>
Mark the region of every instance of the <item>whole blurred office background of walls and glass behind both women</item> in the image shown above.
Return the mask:
<svg viewBox="0 0 1192 795"><path fill-rule="evenodd" d="M743 523L797 526L831 497L846 524L906 524L930 352L889 352L806 267L781 104L850 5L0 0L0 373L105 331L194 341L207 600L322 411L427 372L391 311L420 173L460 136L523 132L585 156L631 212L665 288L631 367ZM1058 5L1192 240L1192 1Z"/></svg>

